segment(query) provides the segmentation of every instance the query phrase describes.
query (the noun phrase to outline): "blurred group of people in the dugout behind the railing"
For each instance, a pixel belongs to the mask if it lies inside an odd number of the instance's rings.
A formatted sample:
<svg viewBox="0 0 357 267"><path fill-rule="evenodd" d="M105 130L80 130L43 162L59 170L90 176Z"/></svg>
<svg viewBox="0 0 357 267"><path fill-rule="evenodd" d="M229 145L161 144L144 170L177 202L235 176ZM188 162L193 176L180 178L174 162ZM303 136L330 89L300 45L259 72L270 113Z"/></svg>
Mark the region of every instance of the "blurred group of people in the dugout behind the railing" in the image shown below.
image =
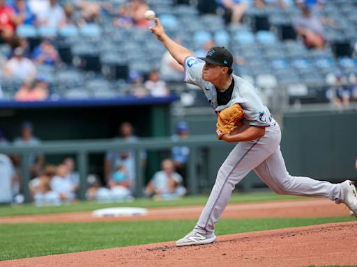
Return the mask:
<svg viewBox="0 0 357 267"><path fill-rule="evenodd" d="M179 122L172 141L177 142L187 138L188 124ZM113 141L123 140L135 143L138 138L130 122L119 125L118 136ZM34 136L33 124L23 122L20 136L13 142L8 140L0 130L0 147L40 145L40 139ZM142 167L146 165L146 152L140 151ZM163 159L162 170L158 170L149 181L145 191L146 197L154 200L174 200L186 193L186 165L190 150L188 147L174 146L171 157ZM0 204L16 202L21 196L21 157L16 154L0 153ZM135 195L136 181L135 151L133 149L114 149L105 154L103 177L90 174L85 178L87 183L86 199L100 202L130 201ZM29 190L31 200L38 206L59 205L73 202L78 199L80 177L76 170L75 160L65 157L61 163L54 165L45 162L45 155L40 153L29 154L30 181ZM177 172L176 172L177 171ZM20 197L22 198L22 197ZM23 198L22 198L23 201Z"/></svg>

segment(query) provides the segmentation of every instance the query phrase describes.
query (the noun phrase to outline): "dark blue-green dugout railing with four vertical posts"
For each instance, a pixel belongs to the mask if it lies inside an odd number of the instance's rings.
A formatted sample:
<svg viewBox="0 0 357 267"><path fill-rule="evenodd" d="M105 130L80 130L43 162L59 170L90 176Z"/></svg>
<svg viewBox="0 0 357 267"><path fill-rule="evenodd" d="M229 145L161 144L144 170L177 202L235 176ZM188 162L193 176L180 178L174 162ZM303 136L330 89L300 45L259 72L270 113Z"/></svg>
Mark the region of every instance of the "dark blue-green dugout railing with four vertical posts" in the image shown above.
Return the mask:
<svg viewBox="0 0 357 267"><path fill-rule="evenodd" d="M213 135L190 136L185 140L173 141L169 137L165 138L140 138L137 142L125 142L123 140L66 140L66 141L45 141L40 145L33 146L9 146L1 147L1 154L17 154L22 156L21 161L21 177L23 184L23 193L25 202L30 202L29 180L30 166L29 156L31 153L43 154L76 154L77 169L79 172L79 199L86 199L86 177L88 175L88 156L90 153L107 152L116 149L133 149L135 151L135 196L142 195L144 186L143 166L140 164L140 151L158 151L162 149L171 149L174 146L187 146L190 148L190 160L188 161L188 186L191 194L199 193L199 185L197 182L197 170L195 162L197 161L198 149L202 147L210 152L218 147L233 147L229 143L219 141ZM209 163L208 163L209 164Z"/></svg>

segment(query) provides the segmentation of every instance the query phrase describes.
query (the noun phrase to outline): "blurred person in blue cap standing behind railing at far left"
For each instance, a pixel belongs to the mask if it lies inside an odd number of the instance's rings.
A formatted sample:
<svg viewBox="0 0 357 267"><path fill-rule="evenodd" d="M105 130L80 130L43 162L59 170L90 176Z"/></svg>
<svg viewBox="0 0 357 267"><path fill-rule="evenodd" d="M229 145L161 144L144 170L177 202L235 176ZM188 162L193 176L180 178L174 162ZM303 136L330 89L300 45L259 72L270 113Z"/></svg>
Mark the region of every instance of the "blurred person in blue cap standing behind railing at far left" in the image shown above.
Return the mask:
<svg viewBox="0 0 357 267"><path fill-rule="evenodd" d="M33 136L33 125L31 122L23 122L21 127L21 136L14 139L13 144L15 146L33 146L39 145L40 140ZM19 156L15 156L15 163L20 165ZM29 164L31 170L31 177L37 177L40 175L45 158L43 154L31 153L29 155Z"/></svg>

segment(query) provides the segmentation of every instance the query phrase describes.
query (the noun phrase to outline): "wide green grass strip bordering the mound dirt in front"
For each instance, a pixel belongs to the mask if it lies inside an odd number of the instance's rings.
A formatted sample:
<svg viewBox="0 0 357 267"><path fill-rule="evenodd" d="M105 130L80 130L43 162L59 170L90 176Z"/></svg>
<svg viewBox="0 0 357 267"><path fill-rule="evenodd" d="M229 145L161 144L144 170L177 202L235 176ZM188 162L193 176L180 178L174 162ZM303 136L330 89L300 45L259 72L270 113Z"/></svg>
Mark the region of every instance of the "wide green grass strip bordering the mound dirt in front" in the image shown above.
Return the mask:
<svg viewBox="0 0 357 267"><path fill-rule="evenodd" d="M216 233L234 234L349 220L354 218L220 220ZM0 260L174 241L187 234L195 223L196 220L1 224Z"/></svg>

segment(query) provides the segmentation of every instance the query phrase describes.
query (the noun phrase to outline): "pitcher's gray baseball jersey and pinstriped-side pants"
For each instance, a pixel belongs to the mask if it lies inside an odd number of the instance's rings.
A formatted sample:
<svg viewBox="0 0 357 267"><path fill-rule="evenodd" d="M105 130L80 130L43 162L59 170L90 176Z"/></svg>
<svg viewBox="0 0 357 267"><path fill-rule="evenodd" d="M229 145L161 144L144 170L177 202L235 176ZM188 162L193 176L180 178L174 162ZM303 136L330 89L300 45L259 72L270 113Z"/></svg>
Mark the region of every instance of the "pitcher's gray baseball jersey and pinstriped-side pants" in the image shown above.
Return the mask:
<svg viewBox="0 0 357 267"><path fill-rule="evenodd" d="M261 101L257 88L232 75L234 89L231 100L225 106L218 106L215 87L202 79L203 67L204 63L199 62L197 58L186 58L185 83L192 83L202 88L215 111L222 111L234 103L240 104L245 112L243 129L251 125L266 127L266 131L261 138L237 143L227 156L218 170L211 195L195 227L196 232L202 234L214 232L214 225L227 206L235 185L248 175L250 170L255 170L259 178L275 193L328 197L340 202L342 197L340 184L289 175L280 152L280 126Z"/></svg>

